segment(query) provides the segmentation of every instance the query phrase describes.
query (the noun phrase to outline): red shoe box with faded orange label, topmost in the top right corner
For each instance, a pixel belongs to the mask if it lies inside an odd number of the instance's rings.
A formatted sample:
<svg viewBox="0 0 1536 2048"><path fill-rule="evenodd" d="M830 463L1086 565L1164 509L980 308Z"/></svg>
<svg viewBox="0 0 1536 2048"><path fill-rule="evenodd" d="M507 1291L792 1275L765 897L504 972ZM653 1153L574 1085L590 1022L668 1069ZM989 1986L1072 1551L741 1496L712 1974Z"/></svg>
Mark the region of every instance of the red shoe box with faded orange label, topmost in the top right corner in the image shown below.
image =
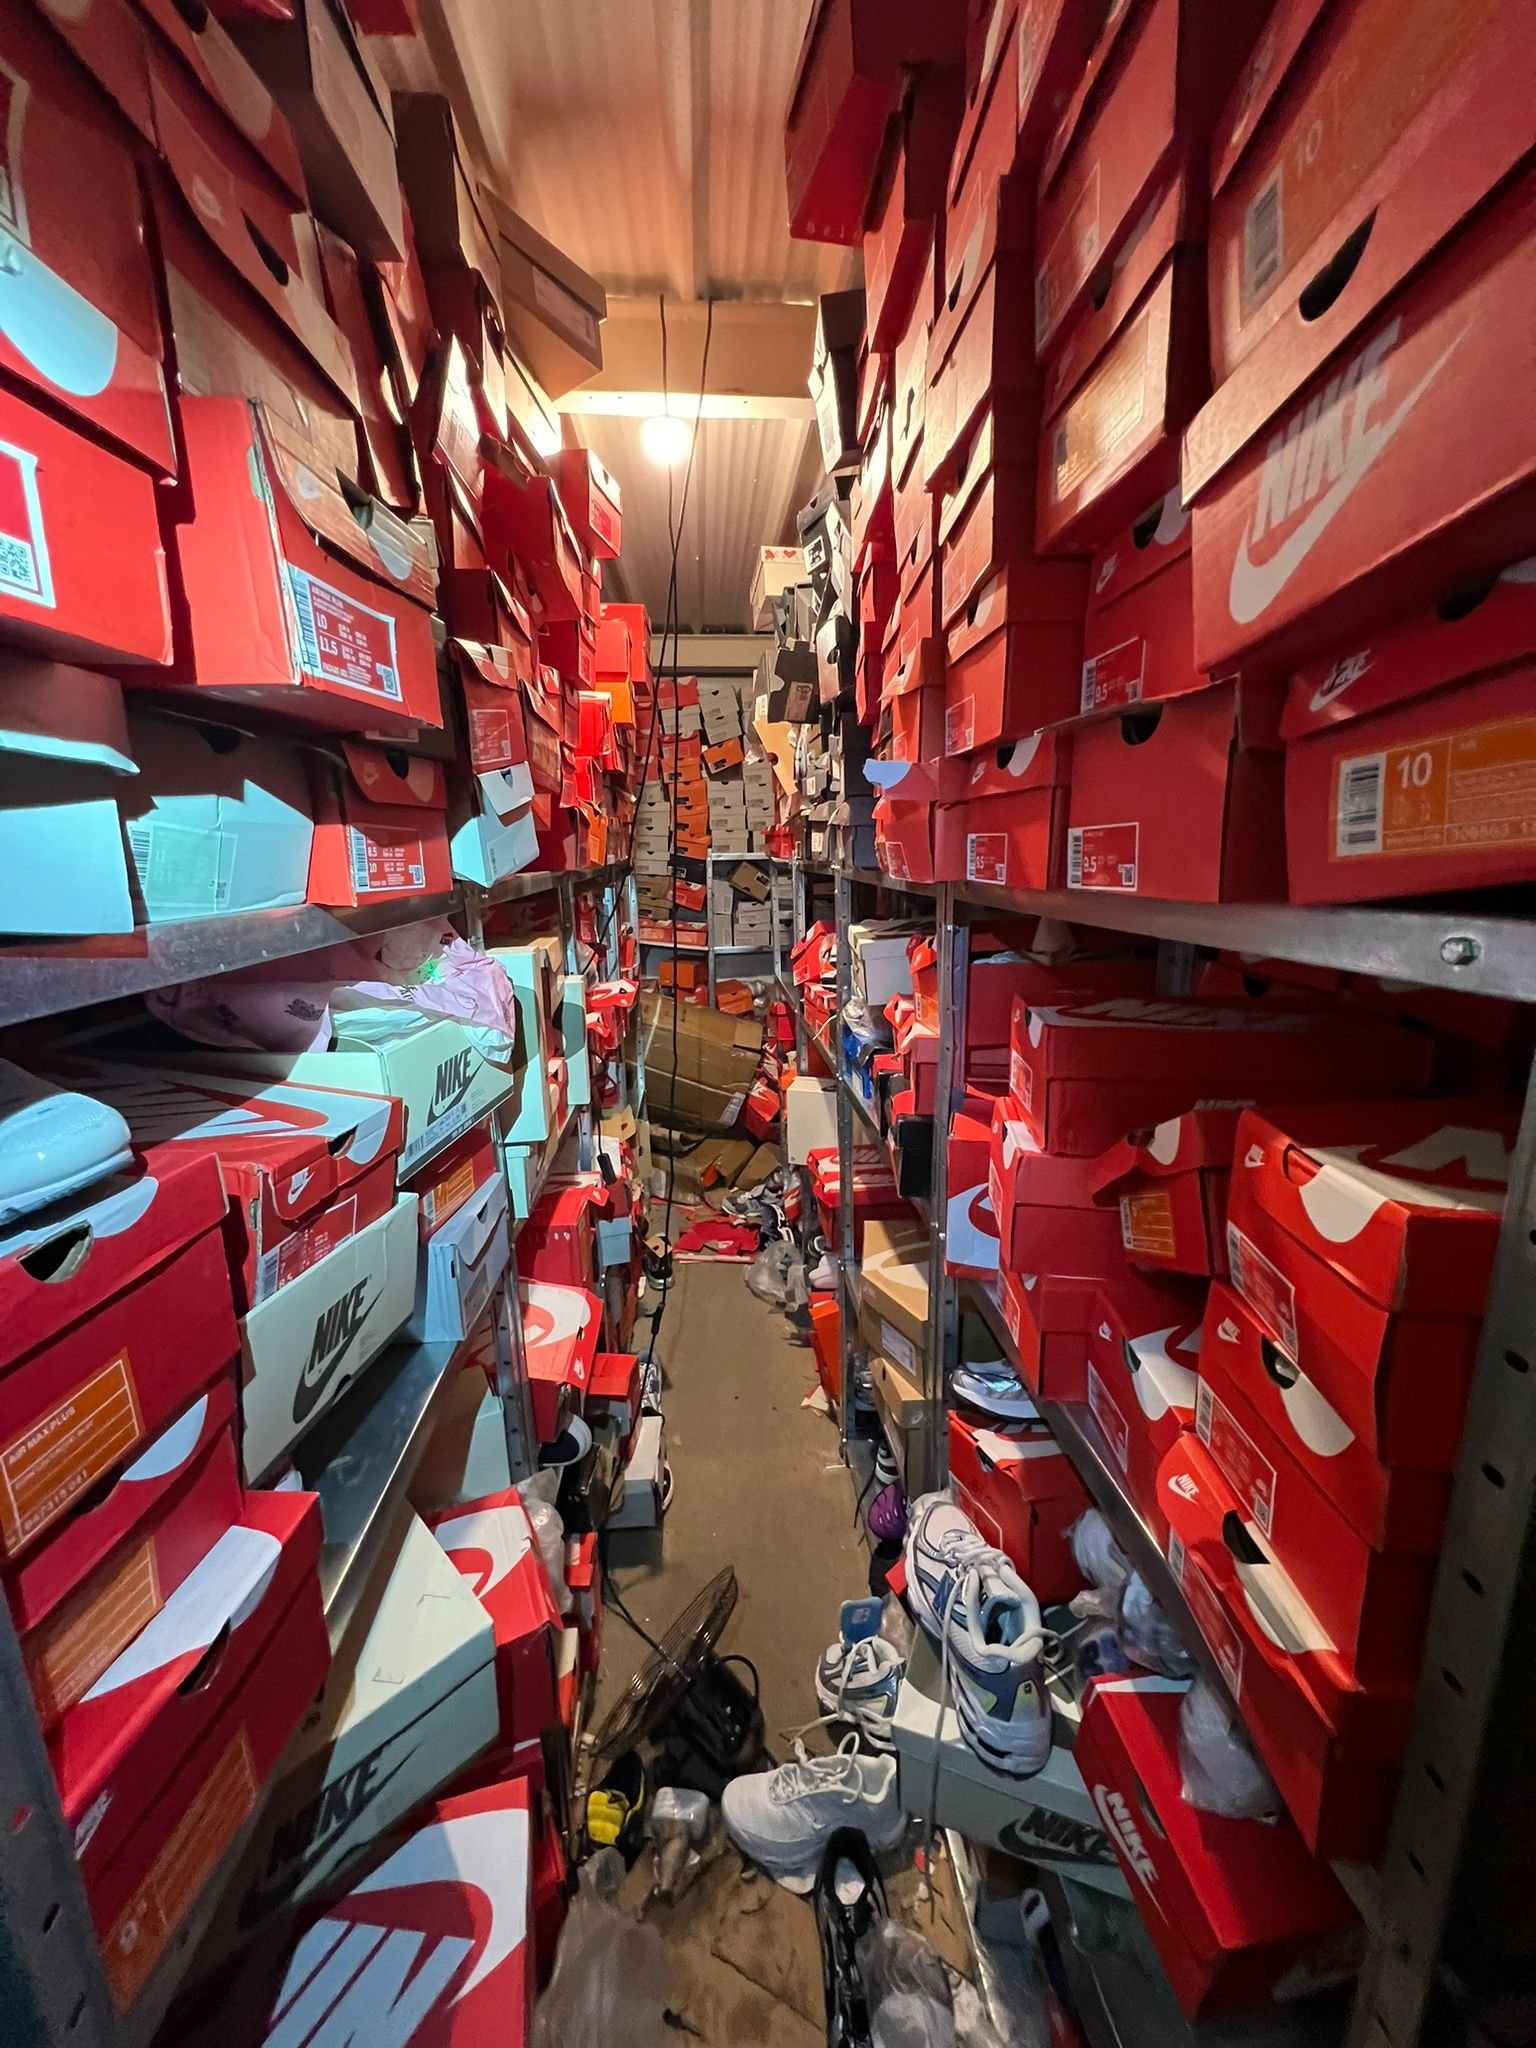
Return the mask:
<svg viewBox="0 0 1536 2048"><path fill-rule="evenodd" d="M1520 0L1282 0L1210 152L1210 356L1262 432L1532 154Z"/></svg>

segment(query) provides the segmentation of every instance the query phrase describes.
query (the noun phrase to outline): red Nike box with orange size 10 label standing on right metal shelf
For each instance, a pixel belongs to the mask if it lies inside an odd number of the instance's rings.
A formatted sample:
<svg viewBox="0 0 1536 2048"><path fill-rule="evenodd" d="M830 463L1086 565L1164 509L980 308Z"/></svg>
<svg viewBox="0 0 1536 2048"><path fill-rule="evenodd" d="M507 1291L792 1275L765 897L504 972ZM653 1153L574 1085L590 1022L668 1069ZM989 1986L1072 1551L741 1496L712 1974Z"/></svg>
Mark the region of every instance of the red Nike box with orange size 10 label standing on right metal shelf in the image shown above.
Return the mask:
<svg viewBox="0 0 1536 2048"><path fill-rule="evenodd" d="M1522 561L1298 668L1280 725L1292 901L1528 881L1534 666Z"/></svg>

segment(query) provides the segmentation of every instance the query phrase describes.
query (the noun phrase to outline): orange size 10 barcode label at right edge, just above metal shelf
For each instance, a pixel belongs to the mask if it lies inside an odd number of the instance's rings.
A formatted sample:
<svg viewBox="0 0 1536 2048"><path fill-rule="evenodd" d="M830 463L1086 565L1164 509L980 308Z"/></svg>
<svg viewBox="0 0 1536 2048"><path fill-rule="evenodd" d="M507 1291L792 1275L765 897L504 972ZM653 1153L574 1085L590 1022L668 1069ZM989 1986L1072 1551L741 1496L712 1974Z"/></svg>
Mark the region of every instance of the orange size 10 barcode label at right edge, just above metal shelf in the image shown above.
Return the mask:
<svg viewBox="0 0 1536 2048"><path fill-rule="evenodd" d="M1493 719L1333 768L1333 858L1536 844L1536 717Z"/></svg>

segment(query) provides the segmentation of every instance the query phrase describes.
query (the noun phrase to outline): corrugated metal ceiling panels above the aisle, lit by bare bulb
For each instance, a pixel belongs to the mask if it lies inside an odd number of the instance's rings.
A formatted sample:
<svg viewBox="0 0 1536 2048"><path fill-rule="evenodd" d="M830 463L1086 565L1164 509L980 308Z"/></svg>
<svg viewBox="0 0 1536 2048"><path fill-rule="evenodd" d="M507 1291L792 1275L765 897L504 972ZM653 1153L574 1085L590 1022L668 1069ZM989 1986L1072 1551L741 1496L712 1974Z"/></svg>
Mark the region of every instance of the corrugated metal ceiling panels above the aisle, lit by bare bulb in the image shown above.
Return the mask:
<svg viewBox="0 0 1536 2048"><path fill-rule="evenodd" d="M440 12L498 188L610 293L809 301L848 281L848 250L784 227L784 102L809 0L440 0ZM741 627L754 549L793 537L813 432L700 428L684 627ZM659 616L666 471L633 422L584 420L582 438L625 492L616 580Z"/></svg>

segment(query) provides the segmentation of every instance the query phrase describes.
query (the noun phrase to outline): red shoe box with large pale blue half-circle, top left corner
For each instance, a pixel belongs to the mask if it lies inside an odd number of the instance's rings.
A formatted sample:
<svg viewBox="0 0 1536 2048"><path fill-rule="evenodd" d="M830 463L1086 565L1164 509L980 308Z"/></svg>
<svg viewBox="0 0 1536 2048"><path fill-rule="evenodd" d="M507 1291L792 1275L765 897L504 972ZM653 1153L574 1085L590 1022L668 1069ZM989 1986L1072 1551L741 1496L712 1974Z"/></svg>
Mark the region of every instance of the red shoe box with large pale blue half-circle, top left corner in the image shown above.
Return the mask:
<svg viewBox="0 0 1536 2048"><path fill-rule="evenodd" d="M133 137L18 8L6 16L4 61L10 270L0 369L72 414L92 438L172 475L176 449Z"/></svg>

